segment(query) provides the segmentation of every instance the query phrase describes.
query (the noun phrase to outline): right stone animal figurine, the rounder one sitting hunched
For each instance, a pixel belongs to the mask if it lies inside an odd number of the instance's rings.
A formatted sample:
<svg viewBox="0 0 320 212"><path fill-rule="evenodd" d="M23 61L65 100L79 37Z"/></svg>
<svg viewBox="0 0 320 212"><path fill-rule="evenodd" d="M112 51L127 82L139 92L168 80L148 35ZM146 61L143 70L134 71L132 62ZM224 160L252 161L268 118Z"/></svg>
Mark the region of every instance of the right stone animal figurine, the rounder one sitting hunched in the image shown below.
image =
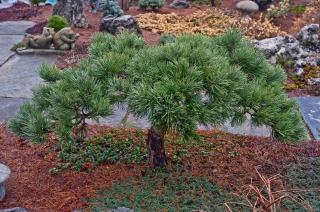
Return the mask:
<svg viewBox="0 0 320 212"><path fill-rule="evenodd" d="M71 50L78 37L79 34L74 33L70 27L65 27L53 36L53 46L56 50Z"/></svg>

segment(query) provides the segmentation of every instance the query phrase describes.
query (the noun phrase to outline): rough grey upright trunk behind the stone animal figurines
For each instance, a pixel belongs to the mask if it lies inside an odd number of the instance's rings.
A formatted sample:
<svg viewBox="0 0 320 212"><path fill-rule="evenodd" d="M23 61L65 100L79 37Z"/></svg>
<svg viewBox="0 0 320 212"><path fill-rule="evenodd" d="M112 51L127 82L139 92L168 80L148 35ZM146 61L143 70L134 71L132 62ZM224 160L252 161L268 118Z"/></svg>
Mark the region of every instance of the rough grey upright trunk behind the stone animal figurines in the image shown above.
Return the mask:
<svg viewBox="0 0 320 212"><path fill-rule="evenodd" d="M83 14L83 0L58 0L53 7L53 15L65 17L72 27L88 27Z"/></svg>

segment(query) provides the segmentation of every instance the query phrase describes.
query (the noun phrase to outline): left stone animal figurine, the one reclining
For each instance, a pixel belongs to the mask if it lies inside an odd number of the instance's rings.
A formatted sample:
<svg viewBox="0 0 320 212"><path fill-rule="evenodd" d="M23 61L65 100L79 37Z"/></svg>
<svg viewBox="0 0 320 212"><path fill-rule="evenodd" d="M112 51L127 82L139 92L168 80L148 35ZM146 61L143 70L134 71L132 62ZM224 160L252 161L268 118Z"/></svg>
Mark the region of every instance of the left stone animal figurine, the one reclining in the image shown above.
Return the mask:
<svg viewBox="0 0 320 212"><path fill-rule="evenodd" d="M52 45L54 29L44 27L41 35L26 35L26 48L49 49Z"/></svg>

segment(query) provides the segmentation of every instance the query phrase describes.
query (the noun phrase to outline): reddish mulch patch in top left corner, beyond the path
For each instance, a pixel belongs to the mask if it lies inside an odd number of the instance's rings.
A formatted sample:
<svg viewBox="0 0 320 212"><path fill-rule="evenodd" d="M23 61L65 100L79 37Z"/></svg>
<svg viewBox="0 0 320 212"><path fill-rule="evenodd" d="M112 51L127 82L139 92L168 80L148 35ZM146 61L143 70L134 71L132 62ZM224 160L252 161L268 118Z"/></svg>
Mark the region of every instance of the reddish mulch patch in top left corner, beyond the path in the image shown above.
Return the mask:
<svg viewBox="0 0 320 212"><path fill-rule="evenodd" d="M28 4L17 2L10 8L0 9L0 22L27 20L38 16L41 12Z"/></svg>

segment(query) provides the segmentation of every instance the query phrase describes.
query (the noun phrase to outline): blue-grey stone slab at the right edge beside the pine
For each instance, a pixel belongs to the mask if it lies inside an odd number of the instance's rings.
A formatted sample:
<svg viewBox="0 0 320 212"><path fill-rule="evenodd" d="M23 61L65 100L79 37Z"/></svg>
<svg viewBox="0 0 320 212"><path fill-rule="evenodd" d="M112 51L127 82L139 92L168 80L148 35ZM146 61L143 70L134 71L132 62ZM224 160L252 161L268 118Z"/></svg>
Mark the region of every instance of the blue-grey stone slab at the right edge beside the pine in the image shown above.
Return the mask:
<svg viewBox="0 0 320 212"><path fill-rule="evenodd" d="M320 140L320 97L297 97L297 101L311 134Z"/></svg>

